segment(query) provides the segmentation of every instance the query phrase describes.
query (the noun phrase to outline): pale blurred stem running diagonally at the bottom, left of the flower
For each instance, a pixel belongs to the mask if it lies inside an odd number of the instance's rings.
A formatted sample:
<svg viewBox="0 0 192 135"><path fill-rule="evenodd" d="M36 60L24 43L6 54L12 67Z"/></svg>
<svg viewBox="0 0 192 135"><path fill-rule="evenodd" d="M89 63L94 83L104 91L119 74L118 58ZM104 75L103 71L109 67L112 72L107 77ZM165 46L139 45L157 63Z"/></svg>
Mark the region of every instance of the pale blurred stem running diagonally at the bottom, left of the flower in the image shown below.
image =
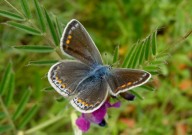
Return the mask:
<svg viewBox="0 0 192 135"><path fill-rule="evenodd" d="M31 128L31 129L28 129L27 131L25 131L25 134L31 134L31 133L34 133L34 132L40 130L40 129L43 129L43 128L55 123L56 121L62 119L63 117L64 117L64 115L56 116L56 117L54 117L54 118L52 118L52 119L50 119L44 123L41 123L41 124Z"/></svg>

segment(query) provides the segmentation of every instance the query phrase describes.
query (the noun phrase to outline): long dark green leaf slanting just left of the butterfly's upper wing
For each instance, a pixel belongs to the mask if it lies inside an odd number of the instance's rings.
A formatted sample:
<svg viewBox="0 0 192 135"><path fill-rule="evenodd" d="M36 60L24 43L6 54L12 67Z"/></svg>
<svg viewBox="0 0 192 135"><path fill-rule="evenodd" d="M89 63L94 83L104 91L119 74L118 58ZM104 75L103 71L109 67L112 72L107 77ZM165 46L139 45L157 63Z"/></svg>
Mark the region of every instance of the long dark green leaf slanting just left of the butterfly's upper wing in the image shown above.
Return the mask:
<svg viewBox="0 0 192 135"><path fill-rule="evenodd" d="M45 16L46 16L46 19L47 19L47 23L48 23L48 26L49 26L49 30L50 30L50 33L51 33L51 36L53 38L53 41L55 43L56 46L59 45L59 38L58 38L58 35L56 33L56 29L53 25L53 22L50 18L50 16L48 15L47 11L45 10Z"/></svg>

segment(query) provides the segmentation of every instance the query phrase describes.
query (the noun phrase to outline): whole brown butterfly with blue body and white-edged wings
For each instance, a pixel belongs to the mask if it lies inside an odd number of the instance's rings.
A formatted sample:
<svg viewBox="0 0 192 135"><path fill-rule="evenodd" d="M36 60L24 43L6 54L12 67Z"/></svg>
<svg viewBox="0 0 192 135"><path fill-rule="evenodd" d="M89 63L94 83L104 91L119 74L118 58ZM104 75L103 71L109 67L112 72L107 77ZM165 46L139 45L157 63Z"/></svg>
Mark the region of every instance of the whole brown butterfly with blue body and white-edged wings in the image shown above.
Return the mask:
<svg viewBox="0 0 192 135"><path fill-rule="evenodd" d="M104 65L101 54L83 25L72 19L60 40L64 54L76 60L54 64L48 72L51 86L82 113L91 113L102 106L109 94L119 93L145 84L151 74L136 69L112 68Z"/></svg>

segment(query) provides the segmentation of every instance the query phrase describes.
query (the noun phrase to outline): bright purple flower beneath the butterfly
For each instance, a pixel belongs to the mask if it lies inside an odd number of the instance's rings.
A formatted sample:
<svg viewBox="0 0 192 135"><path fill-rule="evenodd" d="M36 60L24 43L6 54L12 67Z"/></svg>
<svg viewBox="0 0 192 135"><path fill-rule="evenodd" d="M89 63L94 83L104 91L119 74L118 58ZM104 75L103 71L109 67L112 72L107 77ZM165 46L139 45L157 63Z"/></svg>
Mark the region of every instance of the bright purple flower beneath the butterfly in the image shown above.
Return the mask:
<svg viewBox="0 0 192 135"><path fill-rule="evenodd" d="M101 126L105 125L104 117L107 113L107 109L110 107L119 108L121 105L120 102L110 104L106 101L99 109L92 113L82 113L81 117L76 120L76 125L80 130L86 132L90 128L91 123L99 124Z"/></svg>

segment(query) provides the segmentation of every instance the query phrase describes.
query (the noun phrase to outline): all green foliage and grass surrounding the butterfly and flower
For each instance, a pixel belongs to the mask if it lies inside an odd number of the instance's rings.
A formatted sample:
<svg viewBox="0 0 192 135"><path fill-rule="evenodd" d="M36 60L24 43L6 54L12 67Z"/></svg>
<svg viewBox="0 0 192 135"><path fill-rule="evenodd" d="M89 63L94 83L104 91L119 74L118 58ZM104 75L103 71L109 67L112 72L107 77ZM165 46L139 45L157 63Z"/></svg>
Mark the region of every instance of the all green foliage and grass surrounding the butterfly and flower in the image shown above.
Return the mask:
<svg viewBox="0 0 192 135"><path fill-rule="evenodd" d="M153 75L149 84L131 90L139 100L123 101L119 111L110 111L106 128L94 127L87 134L191 133L188 3L192 4L179 0L0 2L0 133L73 134L77 114L46 79L49 67L65 58L59 40L72 18L88 29L102 56L107 50L104 61Z"/></svg>

